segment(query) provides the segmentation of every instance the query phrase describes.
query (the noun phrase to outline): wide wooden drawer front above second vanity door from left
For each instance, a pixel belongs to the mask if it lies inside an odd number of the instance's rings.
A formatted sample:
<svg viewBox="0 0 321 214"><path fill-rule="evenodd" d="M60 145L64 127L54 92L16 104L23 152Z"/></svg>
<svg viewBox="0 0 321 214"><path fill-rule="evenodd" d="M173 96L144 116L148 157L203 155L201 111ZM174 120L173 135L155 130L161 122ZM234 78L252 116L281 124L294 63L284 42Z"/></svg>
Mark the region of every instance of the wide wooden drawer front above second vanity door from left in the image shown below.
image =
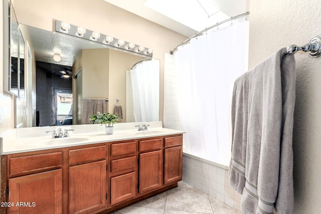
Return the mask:
<svg viewBox="0 0 321 214"><path fill-rule="evenodd" d="M69 150L69 164L106 158L106 146Z"/></svg>

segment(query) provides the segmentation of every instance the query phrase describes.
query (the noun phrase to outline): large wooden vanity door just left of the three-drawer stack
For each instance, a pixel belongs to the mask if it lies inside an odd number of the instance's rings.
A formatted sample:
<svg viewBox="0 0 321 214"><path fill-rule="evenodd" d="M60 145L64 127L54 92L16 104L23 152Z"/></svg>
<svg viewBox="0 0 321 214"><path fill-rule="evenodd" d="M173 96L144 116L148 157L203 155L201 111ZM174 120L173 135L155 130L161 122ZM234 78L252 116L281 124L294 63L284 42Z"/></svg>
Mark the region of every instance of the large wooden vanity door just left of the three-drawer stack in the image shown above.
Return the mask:
<svg viewBox="0 0 321 214"><path fill-rule="evenodd" d="M69 167L69 213L107 206L106 160Z"/></svg>

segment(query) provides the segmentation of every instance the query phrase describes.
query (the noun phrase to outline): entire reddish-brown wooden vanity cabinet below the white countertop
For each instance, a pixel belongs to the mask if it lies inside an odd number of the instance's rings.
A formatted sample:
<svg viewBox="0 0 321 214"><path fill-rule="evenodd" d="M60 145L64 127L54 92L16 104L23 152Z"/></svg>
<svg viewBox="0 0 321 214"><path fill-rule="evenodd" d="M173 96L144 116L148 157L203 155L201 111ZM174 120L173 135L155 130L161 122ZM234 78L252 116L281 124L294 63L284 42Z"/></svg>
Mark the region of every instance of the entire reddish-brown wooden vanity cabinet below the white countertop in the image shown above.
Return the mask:
<svg viewBox="0 0 321 214"><path fill-rule="evenodd" d="M182 180L182 136L2 155L1 202L15 206L0 213L112 213L166 191Z"/></svg>

